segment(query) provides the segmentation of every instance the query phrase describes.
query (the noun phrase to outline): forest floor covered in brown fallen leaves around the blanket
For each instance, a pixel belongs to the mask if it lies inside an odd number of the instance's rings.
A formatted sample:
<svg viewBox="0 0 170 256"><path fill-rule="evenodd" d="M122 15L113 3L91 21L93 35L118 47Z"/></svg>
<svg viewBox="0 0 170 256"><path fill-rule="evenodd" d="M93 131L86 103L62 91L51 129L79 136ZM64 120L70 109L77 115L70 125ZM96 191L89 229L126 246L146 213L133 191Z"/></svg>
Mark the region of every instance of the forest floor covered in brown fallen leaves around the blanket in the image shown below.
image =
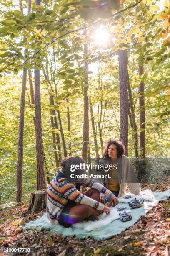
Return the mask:
<svg viewBox="0 0 170 256"><path fill-rule="evenodd" d="M164 191L170 184L143 184L143 189ZM58 256L118 256L118 255L152 255L168 256L170 253L170 198L159 201L145 216L120 235L103 241L93 238L76 239L62 237L57 233L49 235L45 230L23 231L18 228L30 221L25 215L28 205L10 209L0 214L0 256L2 248L31 248L25 255L58 255ZM40 212L32 220L39 218ZM8 253L7 255L16 255ZM22 255L22 254L20 254Z"/></svg>

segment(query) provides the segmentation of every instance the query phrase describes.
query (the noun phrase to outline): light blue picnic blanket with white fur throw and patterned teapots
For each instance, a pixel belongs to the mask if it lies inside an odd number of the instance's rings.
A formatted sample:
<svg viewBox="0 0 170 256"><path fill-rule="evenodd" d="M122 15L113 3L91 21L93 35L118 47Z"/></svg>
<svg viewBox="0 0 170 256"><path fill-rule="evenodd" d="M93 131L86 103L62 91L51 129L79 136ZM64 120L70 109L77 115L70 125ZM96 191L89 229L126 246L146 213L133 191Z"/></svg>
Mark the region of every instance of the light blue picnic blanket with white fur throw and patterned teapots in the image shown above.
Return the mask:
<svg viewBox="0 0 170 256"><path fill-rule="evenodd" d="M151 210L158 201L170 197L170 189L163 192L152 192L151 190L140 191L140 195L130 192L119 197L119 203L110 208L110 214L102 213L99 220L81 221L65 228L62 225L51 225L47 213L35 221L30 221L23 227L24 230L32 228L49 230L49 233L58 233L62 236L76 236L76 238L92 237L95 240L109 239L120 234L125 229L136 223L141 216ZM122 221L121 221L122 220Z"/></svg>

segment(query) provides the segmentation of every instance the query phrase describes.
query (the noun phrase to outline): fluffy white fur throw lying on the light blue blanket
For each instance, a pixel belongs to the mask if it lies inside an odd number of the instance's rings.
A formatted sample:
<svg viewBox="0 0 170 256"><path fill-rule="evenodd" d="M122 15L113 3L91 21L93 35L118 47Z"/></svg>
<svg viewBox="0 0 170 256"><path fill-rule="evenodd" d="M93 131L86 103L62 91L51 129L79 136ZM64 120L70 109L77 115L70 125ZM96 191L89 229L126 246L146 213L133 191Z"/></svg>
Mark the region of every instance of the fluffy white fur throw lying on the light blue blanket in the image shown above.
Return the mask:
<svg viewBox="0 0 170 256"><path fill-rule="evenodd" d="M130 194L130 192L128 192L126 195L132 195ZM154 201L154 195L152 193L151 190L147 189L144 191L140 191L140 195L134 196L132 195L133 198L137 198L139 200L144 200L144 201L149 201L149 202L153 202ZM133 198L129 198L129 199L125 199L123 197L119 197L119 203L123 202L123 203L128 203L130 202ZM128 206L128 205L127 205ZM106 213L102 213L99 217L100 220L95 220L95 221L82 221L79 223L74 224L73 226L77 227L77 228L84 228L86 231L92 231L95 230L97 228L100 228L102 226L107 225L108 223L111 223L114 220L117 220L120 218L119 213L117 211L117 208L119 208L119 204L116 207L111 207L110 208L110 214L106 215ZM130 213L131 210L126 210L126 212Z"/></svg>

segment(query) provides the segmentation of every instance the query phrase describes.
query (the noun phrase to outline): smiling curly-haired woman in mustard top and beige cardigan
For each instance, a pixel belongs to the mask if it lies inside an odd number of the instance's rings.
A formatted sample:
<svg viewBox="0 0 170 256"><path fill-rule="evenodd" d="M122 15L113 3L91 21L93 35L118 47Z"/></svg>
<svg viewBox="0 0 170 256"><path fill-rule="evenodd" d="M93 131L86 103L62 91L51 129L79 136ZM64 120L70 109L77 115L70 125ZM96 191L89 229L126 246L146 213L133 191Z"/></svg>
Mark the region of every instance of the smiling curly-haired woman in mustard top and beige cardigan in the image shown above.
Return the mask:
<svg viewBox="0 0 170 256"><path fill-rule="evenodd" d="M102 153L102 159L100 159L100 172L104 174L105 166L111 164L113 167L108 171L110 179L105 179L104 184L116 197L122 197L125 195L126 188L131 193L139 195L140 184L138 178L134 172L133 166L128 158L125 156L125 146L121 141L110 139L107 141L105 149ZM100 193L100 202L107 202L107 196Z"/></svg>

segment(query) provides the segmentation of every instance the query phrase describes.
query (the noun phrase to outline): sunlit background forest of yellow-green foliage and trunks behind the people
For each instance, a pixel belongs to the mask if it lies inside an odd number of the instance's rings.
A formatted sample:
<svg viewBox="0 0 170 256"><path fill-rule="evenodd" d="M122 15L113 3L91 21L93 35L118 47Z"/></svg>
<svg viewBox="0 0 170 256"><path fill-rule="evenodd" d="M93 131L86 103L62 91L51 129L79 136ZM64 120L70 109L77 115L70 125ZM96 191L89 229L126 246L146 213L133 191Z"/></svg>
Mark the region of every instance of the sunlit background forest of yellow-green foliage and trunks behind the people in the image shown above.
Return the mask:
<svg viewBox="0 0 170 256"><path fill-rule="evenodd" d="M101 158L109 138L169 158L169 47L169 0L1 1L1 203L20 181L26 202L66 156Z"/></svg>

